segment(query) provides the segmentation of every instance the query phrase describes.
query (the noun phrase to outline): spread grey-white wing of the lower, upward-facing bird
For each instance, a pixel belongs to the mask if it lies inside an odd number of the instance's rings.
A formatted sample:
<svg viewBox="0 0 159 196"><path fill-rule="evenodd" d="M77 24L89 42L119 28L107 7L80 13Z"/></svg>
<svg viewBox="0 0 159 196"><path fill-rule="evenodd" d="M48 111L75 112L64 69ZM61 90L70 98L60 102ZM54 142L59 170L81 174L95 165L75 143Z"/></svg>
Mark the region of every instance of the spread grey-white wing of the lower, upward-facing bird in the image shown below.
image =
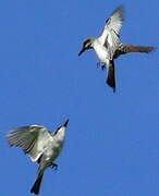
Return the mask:
<svg viewBox="0 0 159 196"><path fill-rule="evenodd" d="M45 126L22 126L11 131L7 135L10 146L22 148L29 155L32 161L37 161L42 155L48 142L52 139Z"/></svg>

